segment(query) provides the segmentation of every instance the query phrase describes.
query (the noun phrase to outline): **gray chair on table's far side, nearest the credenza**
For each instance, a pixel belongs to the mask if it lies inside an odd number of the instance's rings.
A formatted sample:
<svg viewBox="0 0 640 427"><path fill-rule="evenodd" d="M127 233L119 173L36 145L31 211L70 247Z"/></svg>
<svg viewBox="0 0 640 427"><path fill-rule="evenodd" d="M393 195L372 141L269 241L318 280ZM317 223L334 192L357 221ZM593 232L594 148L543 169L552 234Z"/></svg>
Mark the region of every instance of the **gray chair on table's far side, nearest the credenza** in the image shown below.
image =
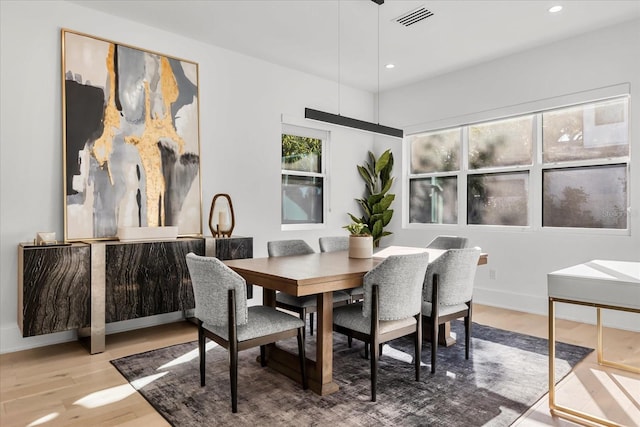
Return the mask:
<svg viewBox="0 0 640 427"><path fill-rule="evenodd" d="M270 257L308 255L315 253L313 248L304 240L274 240L267 242L267 252ZM344 291L333 293L333 304L346 304L351 296ZM276 294L276 307L296 312L306 322L309 314L309 334L313 335L313 314L318 311L316 295L294 296L284 292Z"/></svg>

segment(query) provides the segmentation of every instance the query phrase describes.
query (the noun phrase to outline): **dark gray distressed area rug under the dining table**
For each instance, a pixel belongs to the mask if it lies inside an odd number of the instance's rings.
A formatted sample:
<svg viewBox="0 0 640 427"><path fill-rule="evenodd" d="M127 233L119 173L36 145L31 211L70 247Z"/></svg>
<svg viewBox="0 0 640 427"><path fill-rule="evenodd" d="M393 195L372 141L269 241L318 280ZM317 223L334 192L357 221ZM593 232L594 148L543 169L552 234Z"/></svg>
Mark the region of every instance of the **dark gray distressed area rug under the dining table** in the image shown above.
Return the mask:
<svg viewBox="0 0 640 427"><path fill-rule="evenodd" d="M462 322L452 331L464 336ZM315 337L307 337L307 355ZM285 346L295 349L295 338ZM463 341L438 349L430 373L423 346L421 381L414 380L410 339L385 345L377 402L370 401L369 361L363 344L347 346L334 333L334 381L329 396L303 391L287 377L261 368L259 349L240 353L238 413L231 413L228 353L209 342L206 386L200 387L197 342L136 354L111 363L174 426L508 426L548 391L548 341L474 324L471 358ZM592 349L557 343L559 381Z"/></svg>

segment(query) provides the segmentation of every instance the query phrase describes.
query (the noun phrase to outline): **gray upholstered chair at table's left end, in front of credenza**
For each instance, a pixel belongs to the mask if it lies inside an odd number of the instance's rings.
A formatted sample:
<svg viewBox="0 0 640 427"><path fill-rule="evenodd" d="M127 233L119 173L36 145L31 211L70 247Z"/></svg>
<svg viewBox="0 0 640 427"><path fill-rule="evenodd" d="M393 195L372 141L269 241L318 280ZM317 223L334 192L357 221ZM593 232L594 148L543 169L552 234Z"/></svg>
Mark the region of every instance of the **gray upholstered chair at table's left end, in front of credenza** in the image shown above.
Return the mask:
<svg viewBox="0 0 640 427"><path fill-rule="evenodd" d="M209 338L229 351L231 410L238 412L238 352L260 346L260 363L265 366L266 344L297 336L306 390L304 322L273 307L247 307L245 280L219 259L192 252L186 258L196 303L200 385L205 385L205 338Z"/></svg>

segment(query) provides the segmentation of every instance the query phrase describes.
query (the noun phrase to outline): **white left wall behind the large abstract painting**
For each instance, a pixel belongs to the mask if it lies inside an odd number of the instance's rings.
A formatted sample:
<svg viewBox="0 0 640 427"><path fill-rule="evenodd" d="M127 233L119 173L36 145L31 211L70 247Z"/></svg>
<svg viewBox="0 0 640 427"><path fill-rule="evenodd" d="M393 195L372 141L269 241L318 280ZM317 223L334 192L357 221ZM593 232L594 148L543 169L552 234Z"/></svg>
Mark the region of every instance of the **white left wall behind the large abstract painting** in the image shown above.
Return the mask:
<svg viewBox="0 0 640 427"><path fill-rule="evenodd" d="M268 240L304 238L318 249L318 236L345 232L340 227L346 212L356 211L354 198L363 188L355 165L366 159L373 137L337 127L330 128L328 226L280 231L281 117L304 122L304 107L336 111L335 82L64 1L0 5L0 353L74 339L72 332L22 338L16 320L18 243L32 240L36 231L56 231L63 238L61 28L199 63L205 235L216 193L231 195L234 234L254 237L255 256L267 255ZM348 87L340 92L342 114L373 118L372 94ZM259 292L254 300L260 300ZM130 321L107 331L169 318Z"/></svg>

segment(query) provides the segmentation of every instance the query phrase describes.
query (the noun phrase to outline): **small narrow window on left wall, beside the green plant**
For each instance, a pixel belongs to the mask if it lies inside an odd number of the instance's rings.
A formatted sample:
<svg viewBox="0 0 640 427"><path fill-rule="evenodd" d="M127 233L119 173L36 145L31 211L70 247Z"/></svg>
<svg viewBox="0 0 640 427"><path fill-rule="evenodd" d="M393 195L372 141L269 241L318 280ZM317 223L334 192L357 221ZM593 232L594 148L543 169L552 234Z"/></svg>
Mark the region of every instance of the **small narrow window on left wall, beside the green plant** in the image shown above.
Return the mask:
<svg viewBox="0 0 640 427"><path fill-rule="evenodd" d="M324 221L325 165L328 133L283 125L282 224L322 224Z"/></svg>

